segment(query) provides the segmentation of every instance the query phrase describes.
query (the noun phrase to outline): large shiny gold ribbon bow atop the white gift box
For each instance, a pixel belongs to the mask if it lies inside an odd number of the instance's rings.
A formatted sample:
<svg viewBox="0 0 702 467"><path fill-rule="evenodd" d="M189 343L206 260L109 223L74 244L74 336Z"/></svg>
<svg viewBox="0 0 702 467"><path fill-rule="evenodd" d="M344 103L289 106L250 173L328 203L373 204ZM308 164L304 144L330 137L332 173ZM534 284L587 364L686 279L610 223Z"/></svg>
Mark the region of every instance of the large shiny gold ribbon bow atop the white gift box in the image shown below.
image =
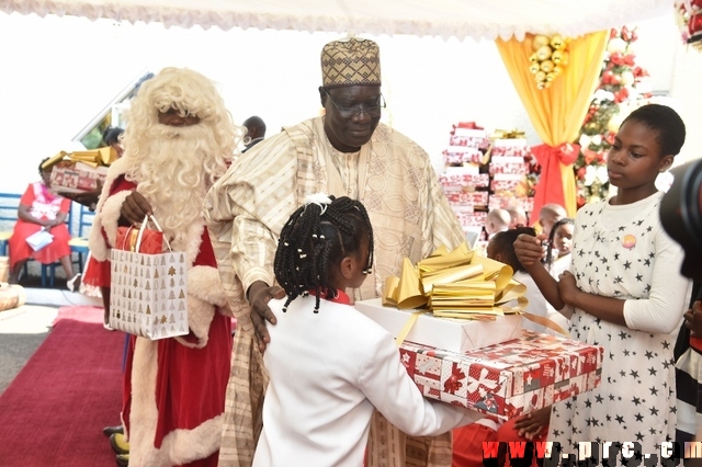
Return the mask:
<svg viewBox="0 0 702 467"><path fill-rule="evenodd" d="M417 265L405 259L400 276L385 283L383 305L426 307L444 318L487 320L519 314L526 305L526 288L512 275L509 265L475 254L466 243L452 251L441 247ZM513 300L514 307L506 305Z"/></svg>

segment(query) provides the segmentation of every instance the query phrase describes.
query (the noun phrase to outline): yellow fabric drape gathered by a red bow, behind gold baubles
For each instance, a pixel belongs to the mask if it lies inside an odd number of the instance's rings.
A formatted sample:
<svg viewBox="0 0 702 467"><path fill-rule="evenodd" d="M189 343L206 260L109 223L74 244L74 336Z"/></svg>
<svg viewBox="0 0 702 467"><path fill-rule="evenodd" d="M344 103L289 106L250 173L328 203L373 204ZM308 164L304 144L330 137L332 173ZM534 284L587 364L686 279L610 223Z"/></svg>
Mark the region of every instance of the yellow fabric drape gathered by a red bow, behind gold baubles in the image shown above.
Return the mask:
<svg viewBox="0 0 702 467"><path fill-rule="evenodd" d="M551 87L543 90L536 88L534 76L529 71L534 35L528 34L522 42L516 38L496 41L529 118L544 144L558 147L573 143L578 137L592 93L597 89L609 34L609 31L600 31L571 39L567 47L570 57L568 65ZM573 217L577 208L573 164L563 164L561 161L558 164L564 207ZM534 206L534 210L536 208Z"/></svg>

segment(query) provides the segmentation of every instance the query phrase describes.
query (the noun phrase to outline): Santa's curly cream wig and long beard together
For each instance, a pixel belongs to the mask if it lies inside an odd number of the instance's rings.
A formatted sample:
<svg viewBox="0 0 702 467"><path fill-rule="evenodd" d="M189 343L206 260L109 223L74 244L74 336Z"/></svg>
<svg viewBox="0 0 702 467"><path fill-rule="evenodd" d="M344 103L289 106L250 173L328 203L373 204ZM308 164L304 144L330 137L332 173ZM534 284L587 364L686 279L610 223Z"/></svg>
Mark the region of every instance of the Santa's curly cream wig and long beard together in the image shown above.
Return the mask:
<svg viewBox="0 0 702 467"><path fill-rule="evenodd" d="M171 109L200 122L160 124L159 112ZM165 68L141 84L126 117L125 176L178 243L183 227L201 218L204 195L227 170L246 128L234 124L214 82L186 68Z"/></svg>

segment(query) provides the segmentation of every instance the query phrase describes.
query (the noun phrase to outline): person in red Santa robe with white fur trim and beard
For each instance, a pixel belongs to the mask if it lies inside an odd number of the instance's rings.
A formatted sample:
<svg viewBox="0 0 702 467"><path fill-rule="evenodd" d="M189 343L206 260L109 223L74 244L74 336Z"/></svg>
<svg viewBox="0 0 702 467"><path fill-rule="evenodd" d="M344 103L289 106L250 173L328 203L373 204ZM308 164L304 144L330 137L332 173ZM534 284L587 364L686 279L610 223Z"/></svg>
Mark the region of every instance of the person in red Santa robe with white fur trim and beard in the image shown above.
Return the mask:
<svg viewBox="0 0 702 467"><path fill-rule="evenodd" d="M132 337L122 419L129 465L216 466L230 368L231 315L202 204L231 160L236 127L214 83L166 68L132 103L124 156L104 184L90 249L110 258L120 226L152 214L188 258L188 335Z"/></svg>

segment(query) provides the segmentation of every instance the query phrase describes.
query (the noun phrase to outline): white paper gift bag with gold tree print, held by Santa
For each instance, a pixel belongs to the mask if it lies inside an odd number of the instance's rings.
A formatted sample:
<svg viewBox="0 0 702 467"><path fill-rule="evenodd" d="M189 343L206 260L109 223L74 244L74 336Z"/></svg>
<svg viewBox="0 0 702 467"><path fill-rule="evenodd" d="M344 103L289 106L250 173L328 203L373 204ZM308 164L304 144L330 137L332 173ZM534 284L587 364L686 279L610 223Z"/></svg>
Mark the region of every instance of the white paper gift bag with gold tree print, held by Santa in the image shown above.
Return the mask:
<svg viewBox="0 0 702 467"><path fill-rule="evenodd" d="M186 255L183 251L140 253L146 221L135 251L112 249L110 326L150 340L185 335L188 327ZM161 230L154 218L158 230Z"/></svg>

